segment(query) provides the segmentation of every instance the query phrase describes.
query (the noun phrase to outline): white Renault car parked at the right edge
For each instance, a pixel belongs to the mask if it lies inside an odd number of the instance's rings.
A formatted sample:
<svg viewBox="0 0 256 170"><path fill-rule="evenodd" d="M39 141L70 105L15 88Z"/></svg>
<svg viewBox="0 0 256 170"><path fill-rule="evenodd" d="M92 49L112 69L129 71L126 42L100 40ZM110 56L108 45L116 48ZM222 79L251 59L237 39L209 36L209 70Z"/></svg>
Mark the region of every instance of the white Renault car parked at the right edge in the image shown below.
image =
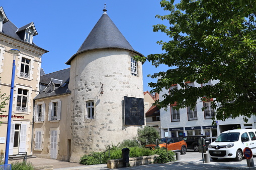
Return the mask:
<svg viewBox="0 0 256 170"><path fill-rule="evenodd" d="M241 161L243 149L249 147L256 154L256 129L236 129L220 133L216 140L208 145L208 152L213 160L235 158Z"/></svg>

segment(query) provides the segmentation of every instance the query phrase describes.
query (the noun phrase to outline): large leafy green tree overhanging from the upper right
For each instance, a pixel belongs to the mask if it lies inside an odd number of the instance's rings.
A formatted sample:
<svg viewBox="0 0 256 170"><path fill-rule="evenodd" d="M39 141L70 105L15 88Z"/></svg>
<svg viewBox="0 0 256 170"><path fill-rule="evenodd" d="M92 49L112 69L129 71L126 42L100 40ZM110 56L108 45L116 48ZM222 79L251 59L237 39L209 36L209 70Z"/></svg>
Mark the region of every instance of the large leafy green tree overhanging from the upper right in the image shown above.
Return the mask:
<svg viewBox="0 0 256 170"><path fill-rule="evenodd" d="M159 93L173 84L181 89L163 94L159 107L178 103L178 108L196 105L197 99L212 101L216 110L212 120L225 120L242 115L247 121L256 115L256 1L254 0L174 0L160 2L170 14L157 15L167 20L169 26L153 26L154 32L163 32L170 41L157 42L164 53L146 58L155 67L165 64L174 69L148 75L158 78L149 83L152 93ZM185 82L215 85L189 87ZM204 109L204 108L202 108Z"/></svg>

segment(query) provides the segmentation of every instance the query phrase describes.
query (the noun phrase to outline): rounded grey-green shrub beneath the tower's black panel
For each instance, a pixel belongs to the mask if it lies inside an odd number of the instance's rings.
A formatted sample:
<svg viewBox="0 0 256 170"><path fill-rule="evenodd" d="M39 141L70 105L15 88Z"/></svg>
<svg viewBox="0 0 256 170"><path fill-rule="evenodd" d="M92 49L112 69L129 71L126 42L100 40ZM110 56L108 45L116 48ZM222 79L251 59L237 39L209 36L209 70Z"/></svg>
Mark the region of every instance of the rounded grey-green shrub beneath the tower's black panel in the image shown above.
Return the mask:
<svg viewBox="0 0 256 170"><path fill-rule="evenodd" d="M160 138L159 132L151 126L144 126L138 129L138 140L142 146L155 143L155 140Z"/></svg>

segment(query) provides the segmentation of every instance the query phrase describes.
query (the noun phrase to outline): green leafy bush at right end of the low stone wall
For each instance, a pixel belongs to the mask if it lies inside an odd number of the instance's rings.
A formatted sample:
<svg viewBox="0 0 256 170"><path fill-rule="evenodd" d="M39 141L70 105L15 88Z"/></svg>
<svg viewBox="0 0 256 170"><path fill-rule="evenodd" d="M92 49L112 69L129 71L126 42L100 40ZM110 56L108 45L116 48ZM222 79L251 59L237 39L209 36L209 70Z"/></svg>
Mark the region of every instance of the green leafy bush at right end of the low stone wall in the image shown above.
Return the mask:
<svg viewBox="0 0 256 170"><path fill-rule="evenodd" d="M166 152L165 149L157 148L155 149L155 154L158 154L159 157L155 159L155 163L167 163L170 161L175 161L175 152L172 150L168 150Z"/></svg>

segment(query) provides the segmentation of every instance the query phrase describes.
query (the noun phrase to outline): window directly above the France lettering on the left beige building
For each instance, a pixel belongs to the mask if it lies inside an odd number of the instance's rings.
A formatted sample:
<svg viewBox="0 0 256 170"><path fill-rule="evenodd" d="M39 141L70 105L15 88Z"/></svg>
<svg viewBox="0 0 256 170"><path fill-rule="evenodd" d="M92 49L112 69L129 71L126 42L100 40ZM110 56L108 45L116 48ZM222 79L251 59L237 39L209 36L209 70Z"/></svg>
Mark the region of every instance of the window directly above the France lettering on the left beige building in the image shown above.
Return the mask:
<svg viewBox="0 0 256 170"><path fill-rule="evenodd" d="M28 90L18 89L16 111L28 112L27 98L28 98Z"/></svg>

